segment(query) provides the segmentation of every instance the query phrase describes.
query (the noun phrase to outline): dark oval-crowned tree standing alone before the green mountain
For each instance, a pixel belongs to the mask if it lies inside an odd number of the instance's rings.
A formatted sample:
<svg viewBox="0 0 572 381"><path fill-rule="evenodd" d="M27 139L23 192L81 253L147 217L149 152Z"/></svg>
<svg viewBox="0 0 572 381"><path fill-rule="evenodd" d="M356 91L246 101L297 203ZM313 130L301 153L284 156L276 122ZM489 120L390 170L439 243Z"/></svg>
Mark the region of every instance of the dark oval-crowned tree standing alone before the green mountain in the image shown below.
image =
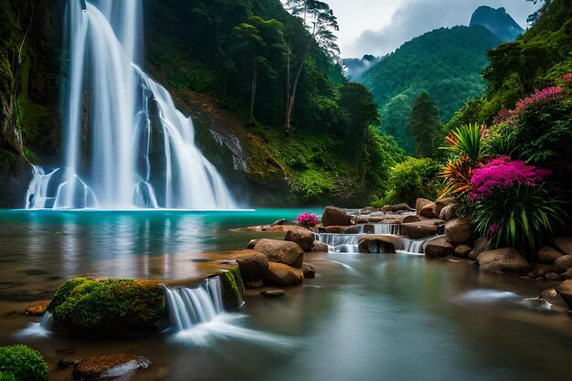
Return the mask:
<svg viewBox="0 0 572 381"><path fill-rule="evenodd" d="M440 128L439 109L435 102L429 99L429 94L423 91L413 102L409 115L409 131L418 157L431 157L433 140Z"/></svg>

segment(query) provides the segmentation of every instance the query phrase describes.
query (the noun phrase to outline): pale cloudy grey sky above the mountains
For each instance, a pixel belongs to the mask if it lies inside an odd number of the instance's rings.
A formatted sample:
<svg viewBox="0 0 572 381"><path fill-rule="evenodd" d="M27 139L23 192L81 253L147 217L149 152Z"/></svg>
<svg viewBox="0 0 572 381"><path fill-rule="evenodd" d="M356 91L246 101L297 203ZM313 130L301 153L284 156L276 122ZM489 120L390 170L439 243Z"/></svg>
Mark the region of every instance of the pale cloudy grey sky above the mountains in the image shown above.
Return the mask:
<svg viewBox="0 0 572 381"><path fill-rule="evenodd" d="M387 54L413 37L440 26L469 25L480 5L503 6L526 28L539 5L525 0L323 0L334 10L343 58Z"/></svg>

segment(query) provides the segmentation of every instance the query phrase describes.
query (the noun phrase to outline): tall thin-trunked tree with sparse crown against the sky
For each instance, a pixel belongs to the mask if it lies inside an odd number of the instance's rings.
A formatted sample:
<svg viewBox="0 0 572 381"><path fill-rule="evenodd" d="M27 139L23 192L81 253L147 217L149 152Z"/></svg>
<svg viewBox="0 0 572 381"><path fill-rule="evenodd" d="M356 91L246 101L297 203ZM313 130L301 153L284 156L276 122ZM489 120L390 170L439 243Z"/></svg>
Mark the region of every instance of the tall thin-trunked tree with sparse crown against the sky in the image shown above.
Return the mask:
<svg viewBox="0 0 572 381"><path fill-rule="evenodd" d="M293 16L298 16L302 20L303 26L309 32L292 84L291 48L287 51L286 118L284 121L284 132L288 133L291 127L291 112L294 101L296 100L296 90L298 89L302 69L310 52L310 48L312 47L312 42L316 42L318 47L322 48L331 58L337 58L340 49L335 43L337 37L334 36L332 31L339 30L339 26L334 12L330 9L330 5L316 0L288 0L286 6Z"/></svg>

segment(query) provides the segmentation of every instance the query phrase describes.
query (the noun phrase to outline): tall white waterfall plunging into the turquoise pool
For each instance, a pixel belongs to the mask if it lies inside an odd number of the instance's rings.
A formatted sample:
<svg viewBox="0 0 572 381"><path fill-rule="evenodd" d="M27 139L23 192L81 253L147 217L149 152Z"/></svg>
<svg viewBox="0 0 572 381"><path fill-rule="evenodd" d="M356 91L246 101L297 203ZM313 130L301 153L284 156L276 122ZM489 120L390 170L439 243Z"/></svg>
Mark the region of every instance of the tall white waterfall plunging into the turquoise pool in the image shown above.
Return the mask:
<svg viewBox="0 0 572 381"><path fill-rule="evenodd" d="M65 166L35 169L26 208L234 208L190 118L139 69L142 0L69 0Z"/></svg>

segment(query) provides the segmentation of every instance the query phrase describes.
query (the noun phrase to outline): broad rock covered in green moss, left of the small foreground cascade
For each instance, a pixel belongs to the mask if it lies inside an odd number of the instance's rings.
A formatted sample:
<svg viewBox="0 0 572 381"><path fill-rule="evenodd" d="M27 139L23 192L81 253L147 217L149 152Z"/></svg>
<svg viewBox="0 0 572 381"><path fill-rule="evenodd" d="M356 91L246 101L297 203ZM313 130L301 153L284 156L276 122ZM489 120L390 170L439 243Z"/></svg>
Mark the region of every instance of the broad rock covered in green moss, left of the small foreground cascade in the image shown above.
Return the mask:
<svg viewBox="0 0 572 381"><path fill-rule="evenodd" d="M74 278L59 286L48 311L65 331L154 331L164 317L164 291L147 280Z"/></svg>

